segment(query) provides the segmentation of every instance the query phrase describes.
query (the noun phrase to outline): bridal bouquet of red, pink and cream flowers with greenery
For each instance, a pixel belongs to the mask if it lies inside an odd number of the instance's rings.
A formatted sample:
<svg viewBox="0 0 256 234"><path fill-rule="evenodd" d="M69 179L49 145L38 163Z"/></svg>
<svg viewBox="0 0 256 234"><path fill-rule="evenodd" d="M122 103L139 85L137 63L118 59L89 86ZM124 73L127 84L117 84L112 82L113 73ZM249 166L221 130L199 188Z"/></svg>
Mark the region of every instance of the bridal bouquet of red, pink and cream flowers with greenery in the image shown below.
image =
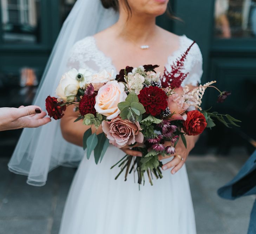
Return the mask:
<svg viewBox="0 0 256 234"><path fill-rule="evenodd" d="M164 69L163 76L155 71L158 65L127 66L116 77L113 71L93 74L86 69L71 69L60 80L56 90L58 98L47 97L48 114L60 119L66 106L74 105L74 111L78 112L76 121L83 120L84 125L96 128L101 125L103 129L98 135L92 134L91 128L84 133L87 158L94 151L95 162L101 162L109 144L118 148L133 147L143 156L125 155L113 165L120 167L115 179L123 171L125 180L128 174L136 172L139 185L145 182L144 175L152 185L153 175L163 177L158 155L174 155L179 139L186 147L185 135L201 134L206 127L215 126L214 120L227 127L237 126L236 122L239 122L228 114L201 109L206 88L216 88L212 86L216 81L192 90L181 86L188 75L183 72L183 66L191 46L169 70ZM219 102L230 94L218 92ZM168 146L164 144L166 141L169 141Z"/></svg>

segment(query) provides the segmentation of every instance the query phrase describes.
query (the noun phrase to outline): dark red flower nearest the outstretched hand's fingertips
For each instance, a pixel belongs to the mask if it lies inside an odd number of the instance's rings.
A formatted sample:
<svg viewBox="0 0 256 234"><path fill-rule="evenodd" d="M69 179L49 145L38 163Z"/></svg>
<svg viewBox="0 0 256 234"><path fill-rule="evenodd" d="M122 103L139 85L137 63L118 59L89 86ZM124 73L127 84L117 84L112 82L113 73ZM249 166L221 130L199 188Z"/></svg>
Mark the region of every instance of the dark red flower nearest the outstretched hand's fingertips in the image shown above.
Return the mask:
<svg viewBox="0 0 256 234"><path fill-rule="evenodd" d="M55 120L61 119L64 116L63 111L66 111L66 105L60 106L61 104L63 104L63 102L58 102L57 98L51 96L45 99L46 111L48 115Z"/></svg>

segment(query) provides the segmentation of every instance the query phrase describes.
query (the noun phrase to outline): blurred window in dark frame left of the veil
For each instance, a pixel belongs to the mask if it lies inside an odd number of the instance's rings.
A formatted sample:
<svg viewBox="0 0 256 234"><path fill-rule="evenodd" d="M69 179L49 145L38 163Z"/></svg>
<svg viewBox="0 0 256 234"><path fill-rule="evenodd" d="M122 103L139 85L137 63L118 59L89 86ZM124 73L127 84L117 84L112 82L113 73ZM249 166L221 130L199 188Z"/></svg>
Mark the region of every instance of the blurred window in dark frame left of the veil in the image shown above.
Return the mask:
<svg viewBox="0 0 256 234"><path fill-rule="evenodd" d="M41 0L1 0L2 41L40 43Z"/></svg>

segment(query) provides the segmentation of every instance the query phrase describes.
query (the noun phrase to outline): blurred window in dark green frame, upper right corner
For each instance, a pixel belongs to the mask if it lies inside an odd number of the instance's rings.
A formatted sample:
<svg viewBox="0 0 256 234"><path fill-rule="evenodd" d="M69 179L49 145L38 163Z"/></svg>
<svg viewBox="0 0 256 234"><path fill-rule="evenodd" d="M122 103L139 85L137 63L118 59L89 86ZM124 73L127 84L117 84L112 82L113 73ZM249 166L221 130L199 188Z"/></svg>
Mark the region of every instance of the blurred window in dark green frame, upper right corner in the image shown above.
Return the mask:
<svg viewBox="0 0 256 234"><path fill-rule="evenodd" d="M215 0L217 38L256 38L256 0Z"/></svg>

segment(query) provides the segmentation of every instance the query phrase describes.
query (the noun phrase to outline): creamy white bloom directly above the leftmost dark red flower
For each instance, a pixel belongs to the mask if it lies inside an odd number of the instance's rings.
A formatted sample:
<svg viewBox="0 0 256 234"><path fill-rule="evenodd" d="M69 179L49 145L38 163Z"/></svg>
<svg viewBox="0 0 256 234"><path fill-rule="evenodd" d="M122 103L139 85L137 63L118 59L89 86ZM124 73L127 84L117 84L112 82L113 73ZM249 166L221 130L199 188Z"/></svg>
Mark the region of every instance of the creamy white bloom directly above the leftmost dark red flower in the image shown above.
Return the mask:
<svg viewBox="0 0 256 234"><path fill-rule="evenodd" d="M76 98L80 87L79 81L76 79L77 74L78 72L76 69L71 69L62 76L59 86L56 89L56 94L63 101L72 102Z"/></svg>

